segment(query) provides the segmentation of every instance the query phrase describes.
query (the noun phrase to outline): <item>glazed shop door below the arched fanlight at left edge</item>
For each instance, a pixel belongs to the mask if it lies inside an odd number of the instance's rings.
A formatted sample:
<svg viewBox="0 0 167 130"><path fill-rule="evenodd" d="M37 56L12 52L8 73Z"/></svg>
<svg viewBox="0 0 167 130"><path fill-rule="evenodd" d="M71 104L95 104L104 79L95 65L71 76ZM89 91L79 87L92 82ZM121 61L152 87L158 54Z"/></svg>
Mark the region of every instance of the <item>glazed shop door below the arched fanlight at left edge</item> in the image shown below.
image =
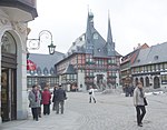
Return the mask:
<svg viewBox="0 0 167 130"><path fill-rule="evenodd" d="M2 121L17 119L16 70L2 68L1 76L1 117Z"/></svg>

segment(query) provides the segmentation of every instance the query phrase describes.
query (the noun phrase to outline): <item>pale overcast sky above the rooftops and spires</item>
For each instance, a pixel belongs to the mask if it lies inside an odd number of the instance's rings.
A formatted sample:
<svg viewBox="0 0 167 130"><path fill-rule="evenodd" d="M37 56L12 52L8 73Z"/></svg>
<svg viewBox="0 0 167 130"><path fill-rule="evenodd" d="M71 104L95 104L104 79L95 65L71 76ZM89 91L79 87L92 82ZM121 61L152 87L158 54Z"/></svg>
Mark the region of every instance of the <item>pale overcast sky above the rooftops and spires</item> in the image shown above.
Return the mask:
<svg viewBox="0 0 167 130"><path fill-rule="evenodd" d="M116 50L125 56L138 43L154 46L167 41L166 0L37 0L39 17L29 22L29 38L41 30L52 33L56 50L66 53L72 42L86 31L88 7L95 28L107 39L108 10ZM43 42L33 53L48 53Z"/></svg>

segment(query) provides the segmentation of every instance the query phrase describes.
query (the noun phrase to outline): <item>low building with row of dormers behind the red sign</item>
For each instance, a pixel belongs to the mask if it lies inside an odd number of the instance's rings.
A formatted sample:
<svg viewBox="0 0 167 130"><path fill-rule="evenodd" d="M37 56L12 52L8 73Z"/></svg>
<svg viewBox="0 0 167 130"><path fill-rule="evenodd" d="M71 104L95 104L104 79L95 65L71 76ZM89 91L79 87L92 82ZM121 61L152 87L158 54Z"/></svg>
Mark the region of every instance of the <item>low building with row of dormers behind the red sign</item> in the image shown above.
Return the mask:
<svg viewBox="0 0 167 130"><path fill-rule="evenodd" d="M63 59L63 53L56 51L53 54L30 53L27 68L27 87L31 89L33 84L41 86L41 89L47 84L51 88L59 84L55 63ZM31 68L29 66L35 66Z"/></svg>

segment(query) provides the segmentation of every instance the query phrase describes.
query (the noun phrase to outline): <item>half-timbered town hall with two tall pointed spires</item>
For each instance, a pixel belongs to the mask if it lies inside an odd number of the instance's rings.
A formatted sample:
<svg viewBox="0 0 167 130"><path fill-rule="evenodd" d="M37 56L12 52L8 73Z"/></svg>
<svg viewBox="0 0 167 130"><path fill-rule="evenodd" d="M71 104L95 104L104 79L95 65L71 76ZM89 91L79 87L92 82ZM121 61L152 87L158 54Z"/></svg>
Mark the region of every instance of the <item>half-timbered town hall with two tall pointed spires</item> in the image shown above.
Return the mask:
<svg viewBox="0 0 167 130"><path fill-rule="evenodd" d="M107 41L95 29L94 14L88 12L87 29L68 50L63 60L55 64L59 83L67 90L116 88L119 86L120 54L115 50L110 19Z"/></svg>

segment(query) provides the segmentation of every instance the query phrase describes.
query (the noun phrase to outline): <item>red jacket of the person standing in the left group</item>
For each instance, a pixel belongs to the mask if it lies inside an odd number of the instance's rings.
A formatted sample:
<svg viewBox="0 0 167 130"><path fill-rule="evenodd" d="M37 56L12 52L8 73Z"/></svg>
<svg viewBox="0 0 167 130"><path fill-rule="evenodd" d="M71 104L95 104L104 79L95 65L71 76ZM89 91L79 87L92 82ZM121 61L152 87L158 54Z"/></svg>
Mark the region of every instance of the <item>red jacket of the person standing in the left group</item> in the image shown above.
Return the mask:
<svg viewBox="0 0 167 130"><path fill-rule="evenodd" d="M42 104L49 104L51 99L51 93L49 90L42 92Z"/></svg>

